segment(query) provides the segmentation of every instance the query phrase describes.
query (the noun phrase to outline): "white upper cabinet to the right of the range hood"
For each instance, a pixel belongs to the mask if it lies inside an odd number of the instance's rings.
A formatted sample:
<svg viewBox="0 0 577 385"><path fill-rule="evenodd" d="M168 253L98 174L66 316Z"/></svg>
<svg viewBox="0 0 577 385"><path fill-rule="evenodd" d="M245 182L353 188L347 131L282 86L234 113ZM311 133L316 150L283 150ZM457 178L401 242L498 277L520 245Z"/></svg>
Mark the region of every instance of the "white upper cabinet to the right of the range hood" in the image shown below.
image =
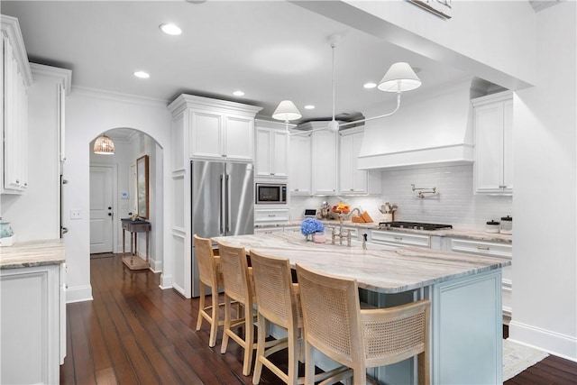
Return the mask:
<svg viewBox="0 0 577 385"><path fill-rule="evenodd" d="M475 121L474 185L479 194L513 194L513 94L472 99Z"/></svg>

